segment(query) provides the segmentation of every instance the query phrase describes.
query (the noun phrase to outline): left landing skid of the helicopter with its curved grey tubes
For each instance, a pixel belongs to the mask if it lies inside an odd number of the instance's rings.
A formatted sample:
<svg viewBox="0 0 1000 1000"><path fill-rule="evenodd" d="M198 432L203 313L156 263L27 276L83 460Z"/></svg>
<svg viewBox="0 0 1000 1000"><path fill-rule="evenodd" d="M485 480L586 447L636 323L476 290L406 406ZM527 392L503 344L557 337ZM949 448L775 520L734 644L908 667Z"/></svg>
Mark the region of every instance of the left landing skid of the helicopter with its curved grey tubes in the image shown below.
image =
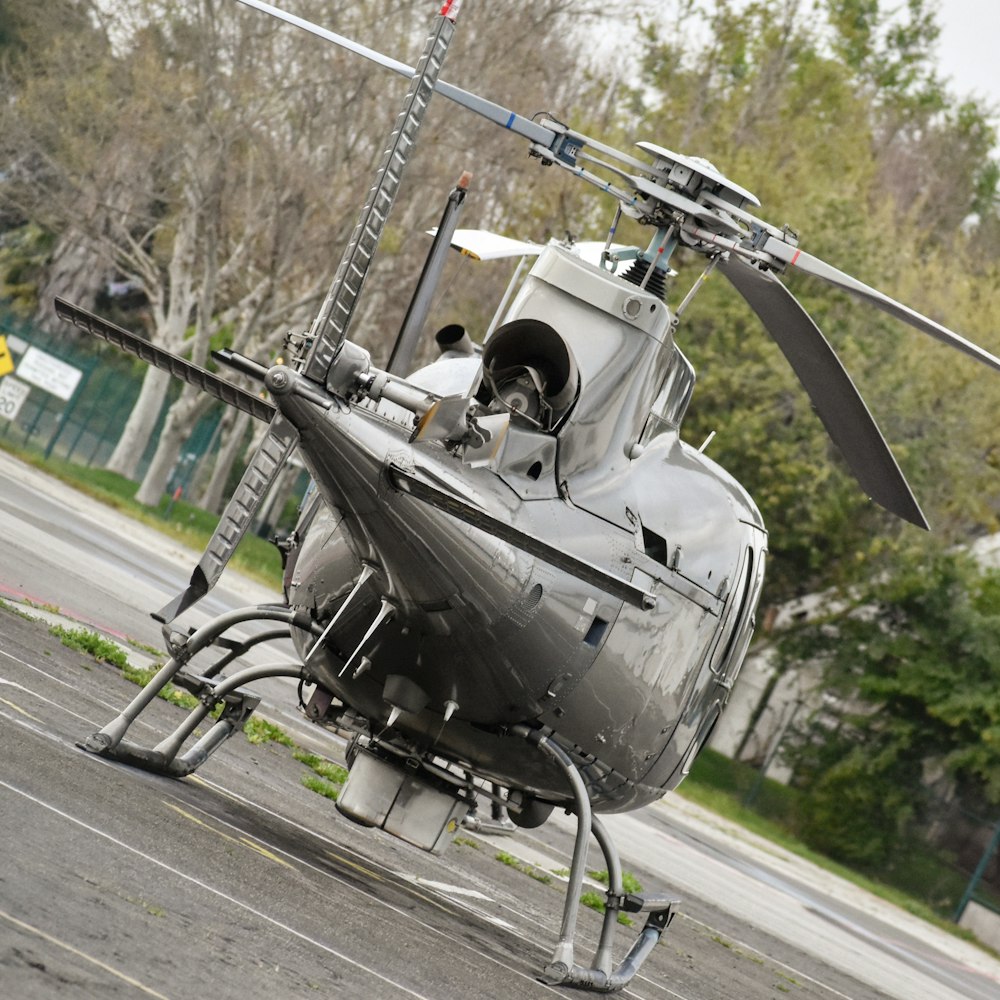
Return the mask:
<svg viewBox="0 0 1000 1000"><path fill-rule="evenodd" d="M277 621L318 633L319 627L302 610L293 611L283 605L262 604L240 608L221 614L184 638L178 633L167 633L167 646L172 654L170 659L150 678L142 690L122 709L121 713L96 733L77 745L88 753L109 757L112 760L140 767L157 774L182 778L193 773L244 723L260 704L260 698L248 691L240 690L244 684L263 680L267 677L292 677L307 679L303 665L261 665L245 667L229 677L217 678L223 666L230 663L234 651L242 654L247 649L265 641L265 637L254 637L243 643L223 643L229 650L222 659L209 667L205 674L195 677L181 674L181 668L201 650L219 642L222 635L235 625L250 621ZM272 630L265 634L266 640L285 638L288 627ZM193 708L183 722L155 747L143 747L126 740L129 727L147 708L153 699L171 681L195 692L200 704ZM178 756L185 740L208 717L212 709L222 704L222 713L212 727L186 753Z"/></svg>

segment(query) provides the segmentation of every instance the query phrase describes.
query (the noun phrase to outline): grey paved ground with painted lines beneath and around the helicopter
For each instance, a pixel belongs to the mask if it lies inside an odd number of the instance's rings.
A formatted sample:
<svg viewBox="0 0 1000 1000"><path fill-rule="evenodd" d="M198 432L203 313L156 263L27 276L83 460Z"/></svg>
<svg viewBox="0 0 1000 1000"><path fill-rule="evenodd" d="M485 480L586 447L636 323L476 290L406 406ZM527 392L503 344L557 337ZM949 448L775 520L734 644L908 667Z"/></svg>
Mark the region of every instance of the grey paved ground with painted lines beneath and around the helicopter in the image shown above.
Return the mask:
<svg viewBox="0 0 1000 1000"><path fill-rule="evenodd" d="M2 454L0 537L0 997L574 995L537 980L570 817L502 841L464 831L438 857L340 816L292 747L237 735L179 781L86 754L77 742L137 689L50 621L147 662L127 637L156 645L148 611L197 556ZM274 597L227 571L213 599ZM341 760L295 704L276 684L259 712ZM157 701L135 735L155 743L181 718ZM683 800L607 826L647 889L684 900L627 996L1000 997L990 956ZM580 958L598 933L584 910Z"/></svg>

